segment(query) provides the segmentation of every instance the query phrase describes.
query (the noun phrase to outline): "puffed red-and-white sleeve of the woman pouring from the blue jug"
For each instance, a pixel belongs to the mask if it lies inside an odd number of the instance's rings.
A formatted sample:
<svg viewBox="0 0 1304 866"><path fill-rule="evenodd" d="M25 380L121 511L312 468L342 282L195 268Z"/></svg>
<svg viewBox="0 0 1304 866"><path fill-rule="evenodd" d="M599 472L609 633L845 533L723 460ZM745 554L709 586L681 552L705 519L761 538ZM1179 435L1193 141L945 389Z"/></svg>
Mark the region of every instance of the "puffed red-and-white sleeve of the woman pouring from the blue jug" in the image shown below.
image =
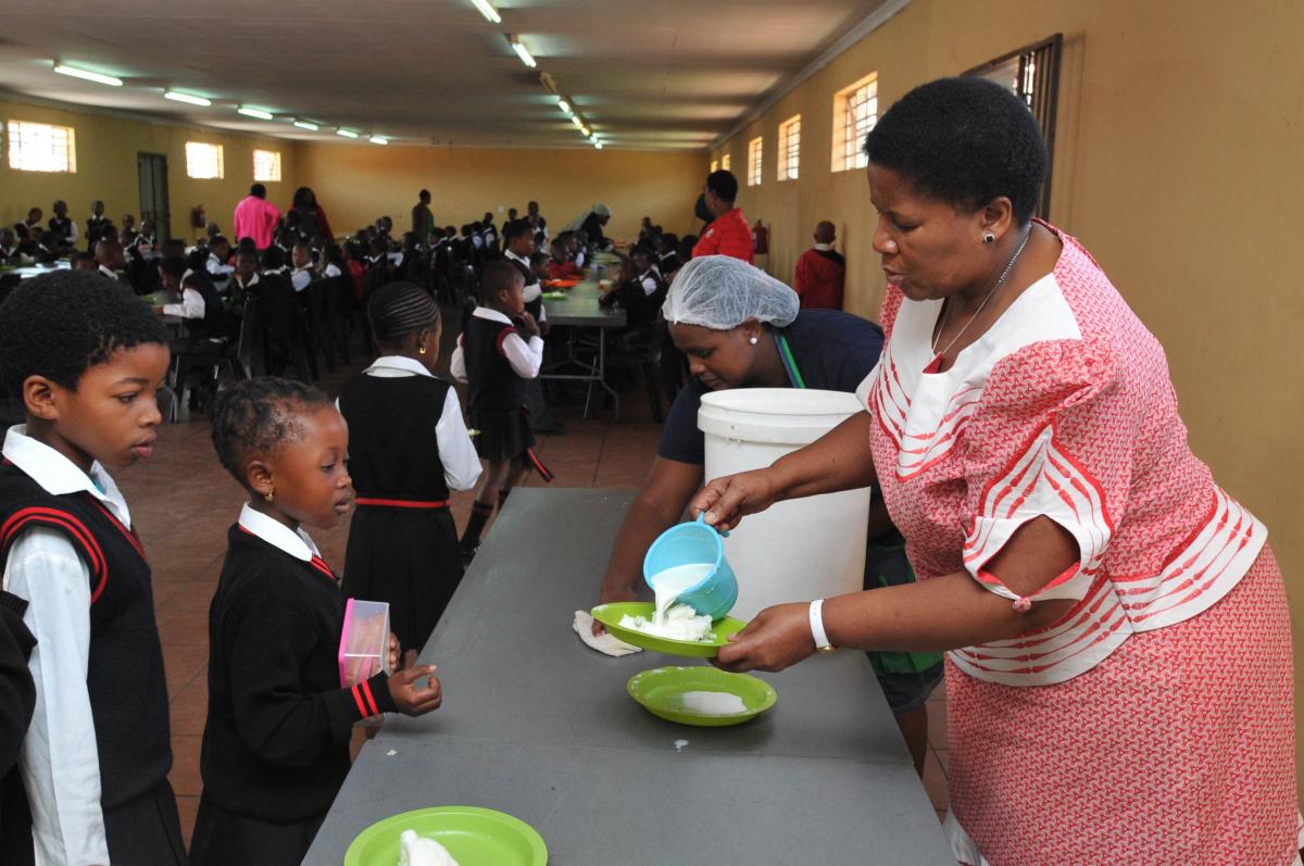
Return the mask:
<svg viewBox="0 0 1304 866"><path fill-rule="evenodd" d="M1140 420L1123 396L1112 350L1082 340L1033 343L991 370L965 438L965 570L1026 609L986 565L1022 524L1047 516L1080 558L1031 599L1084 599L1127 503ZM1103 578L1102 578L1103 579Z"/></svg>

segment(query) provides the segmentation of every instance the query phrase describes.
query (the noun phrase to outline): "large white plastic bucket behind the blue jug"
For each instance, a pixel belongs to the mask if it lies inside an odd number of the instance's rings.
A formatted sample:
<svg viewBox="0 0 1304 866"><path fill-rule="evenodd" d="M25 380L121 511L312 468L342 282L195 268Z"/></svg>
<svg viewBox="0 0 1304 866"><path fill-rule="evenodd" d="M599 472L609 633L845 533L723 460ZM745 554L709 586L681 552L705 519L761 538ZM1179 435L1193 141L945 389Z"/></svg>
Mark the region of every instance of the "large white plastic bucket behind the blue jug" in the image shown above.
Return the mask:
<svg viewBox="0 0 1304 866"><path fill-rule="evenodd" d="M705 477L769 466L863 408L853 394L750 387L702 396ZM750 620L784 601L822 599L863 587L870 488L780 502L743 518L725 539L738 575L732 616Z"/></svg>

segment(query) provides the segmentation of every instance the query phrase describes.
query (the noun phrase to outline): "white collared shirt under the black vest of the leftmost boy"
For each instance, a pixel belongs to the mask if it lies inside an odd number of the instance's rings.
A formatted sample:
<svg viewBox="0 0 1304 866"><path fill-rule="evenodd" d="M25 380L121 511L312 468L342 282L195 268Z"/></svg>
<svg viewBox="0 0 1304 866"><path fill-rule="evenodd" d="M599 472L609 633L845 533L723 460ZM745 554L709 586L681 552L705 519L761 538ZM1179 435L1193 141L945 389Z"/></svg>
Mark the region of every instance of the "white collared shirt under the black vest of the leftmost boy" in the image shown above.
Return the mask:
<svg viewBox="0 0 1304 866"><path fill-rule="evenodd" d="M87 492L130 528L126 500L99 463L90 475L48 445L9 428L4 456L47 493ZM23 623L37 638L27 668L37 711L20 767L31 806L38 866L108 863L100 809L99 751L86 676L90 664L90 571L67 536L34 527L9 548L4 588L26 599Z"/></svg>

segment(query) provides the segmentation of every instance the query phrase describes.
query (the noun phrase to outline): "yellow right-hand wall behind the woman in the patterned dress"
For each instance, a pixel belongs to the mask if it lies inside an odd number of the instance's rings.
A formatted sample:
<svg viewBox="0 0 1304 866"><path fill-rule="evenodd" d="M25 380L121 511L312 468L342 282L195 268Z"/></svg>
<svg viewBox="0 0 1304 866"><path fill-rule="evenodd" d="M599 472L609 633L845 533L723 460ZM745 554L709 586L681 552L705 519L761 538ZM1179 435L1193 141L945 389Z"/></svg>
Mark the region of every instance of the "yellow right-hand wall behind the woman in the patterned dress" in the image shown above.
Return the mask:
<svg viewBox="0 0 1304 866"><path fill-rule="evenodd" d="M792 279L815 223L831 219L848 306L876 317L884 284L868 188L861 172L831 173L833 94L876 70L883 111L915 85L1055 33L1064 57L1051 220L1084 240L1163 342L1192 447L1267 524L1304 695L1304 291L1294 261L1304 4L914 0L712 157L732 153L742 179L747 142L764 136L763 184L745 187L739 203L773 227L775 271ZM801 179L777 183L777 127L794 113Z"/></svg>

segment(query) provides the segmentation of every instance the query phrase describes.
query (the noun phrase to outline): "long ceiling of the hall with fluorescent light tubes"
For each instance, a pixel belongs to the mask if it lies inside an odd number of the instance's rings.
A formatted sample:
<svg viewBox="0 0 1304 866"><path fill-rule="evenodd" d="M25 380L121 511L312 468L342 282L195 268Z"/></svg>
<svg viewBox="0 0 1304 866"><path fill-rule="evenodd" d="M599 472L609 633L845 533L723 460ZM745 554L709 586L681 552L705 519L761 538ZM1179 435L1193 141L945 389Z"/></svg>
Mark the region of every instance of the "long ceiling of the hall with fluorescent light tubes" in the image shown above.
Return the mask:
<svg viewBox="0 0 1304 866"><path fill-rule="evenodd" d="M0 85L287 138L343 142L333 129L347 127L395 142L587 146L540 83L548 70L608 146L703 149L884 3L502 0L493 25L471 0L0 0ZM126 85L55 74L55 60ZM164 100L166 87L214 106Z"/></svg>

